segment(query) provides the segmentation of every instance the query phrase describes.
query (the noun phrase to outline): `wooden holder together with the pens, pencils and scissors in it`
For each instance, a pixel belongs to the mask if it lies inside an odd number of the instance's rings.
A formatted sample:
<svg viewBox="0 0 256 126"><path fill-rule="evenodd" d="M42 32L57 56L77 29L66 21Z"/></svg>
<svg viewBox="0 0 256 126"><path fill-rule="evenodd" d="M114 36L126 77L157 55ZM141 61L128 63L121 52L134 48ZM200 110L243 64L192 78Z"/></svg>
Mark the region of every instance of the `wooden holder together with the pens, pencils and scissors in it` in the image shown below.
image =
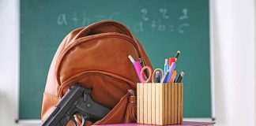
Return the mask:
<svg viewBox="0 0 256 126"><path fill-rule="evenodd" d="M183 79L181 72L175 82L176 61L180 51L175 57L165 59L164 70L155 69L145 65L134 68L141 83L137 83L137 123L138 124L183 124ZM129 55L130 61L133 58ZM141 70L138 73L138 70ZM147 72L147 76L145 76Z"/></svg>

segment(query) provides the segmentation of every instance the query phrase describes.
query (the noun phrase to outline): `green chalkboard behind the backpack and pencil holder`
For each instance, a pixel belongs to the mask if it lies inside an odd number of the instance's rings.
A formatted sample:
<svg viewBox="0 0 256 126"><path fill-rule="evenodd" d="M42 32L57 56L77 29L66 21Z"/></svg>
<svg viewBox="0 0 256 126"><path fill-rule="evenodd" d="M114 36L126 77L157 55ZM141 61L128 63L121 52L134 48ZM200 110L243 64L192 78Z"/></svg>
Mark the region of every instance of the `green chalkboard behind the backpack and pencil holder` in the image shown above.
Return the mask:
<svg viewBox="0 0 256 126"><path fill-rule="evenodd" d="M211 117L208 0L22 0L19 119L40 119L47 72L65 35L98 20L126 24L155 68L180 50L184 117Z"/></svg>

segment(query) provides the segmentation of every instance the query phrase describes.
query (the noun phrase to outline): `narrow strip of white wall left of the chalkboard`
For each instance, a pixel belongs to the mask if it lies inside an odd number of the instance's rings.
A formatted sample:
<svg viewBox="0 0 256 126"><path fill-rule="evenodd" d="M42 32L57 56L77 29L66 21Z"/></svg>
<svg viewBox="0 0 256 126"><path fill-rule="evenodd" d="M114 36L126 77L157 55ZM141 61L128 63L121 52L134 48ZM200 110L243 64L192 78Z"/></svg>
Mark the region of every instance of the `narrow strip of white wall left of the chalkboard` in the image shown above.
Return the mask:
<svg viewBox="0 0 256 126"><path fill-rule="evenodd" d="M14 125L17 119L19 65L19 5L0 0L0 122Z"/></svg>

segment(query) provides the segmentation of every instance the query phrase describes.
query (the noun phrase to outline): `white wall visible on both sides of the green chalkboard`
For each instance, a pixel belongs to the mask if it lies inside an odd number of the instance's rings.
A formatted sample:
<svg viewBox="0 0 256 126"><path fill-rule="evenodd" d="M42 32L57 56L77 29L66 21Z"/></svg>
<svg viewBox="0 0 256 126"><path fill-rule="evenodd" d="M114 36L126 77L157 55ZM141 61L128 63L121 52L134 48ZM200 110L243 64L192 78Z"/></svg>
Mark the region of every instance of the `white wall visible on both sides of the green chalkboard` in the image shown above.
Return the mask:
<svg viewBox="0 0 256 126"><path fill-rule="evenodd" d="M254 0L211 0L216 125L256 125ZM19 2L0 0L0 122L17 119ZM28 125L28 124L24 124ZM38 124L30 124L38 125Z"/></svg>

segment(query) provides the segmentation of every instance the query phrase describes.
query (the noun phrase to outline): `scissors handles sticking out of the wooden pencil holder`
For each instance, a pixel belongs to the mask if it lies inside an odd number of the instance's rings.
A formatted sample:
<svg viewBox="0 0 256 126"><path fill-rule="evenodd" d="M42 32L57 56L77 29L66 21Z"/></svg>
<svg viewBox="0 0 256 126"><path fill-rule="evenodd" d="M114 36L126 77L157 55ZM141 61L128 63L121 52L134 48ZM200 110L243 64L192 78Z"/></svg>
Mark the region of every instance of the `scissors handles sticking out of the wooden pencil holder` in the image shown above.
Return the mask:
<svg viewBox="0 0 256 126"><path fill-rule="evenodd" d="M148 70L149 71L149 77L146 79L145 77L145 74L144 74L144 71L145 70ZM154 82L154 78L155 78L155 75L156 75L156 72L161 72L161 76L163 77L164 76L164 71L163 69L155 69L153 72L152 72L152 69L149 67L149 66L144 66L142 69L141 69L141 83L149 83L150 80L152 80L152 83L155 83Z"/></svg>

